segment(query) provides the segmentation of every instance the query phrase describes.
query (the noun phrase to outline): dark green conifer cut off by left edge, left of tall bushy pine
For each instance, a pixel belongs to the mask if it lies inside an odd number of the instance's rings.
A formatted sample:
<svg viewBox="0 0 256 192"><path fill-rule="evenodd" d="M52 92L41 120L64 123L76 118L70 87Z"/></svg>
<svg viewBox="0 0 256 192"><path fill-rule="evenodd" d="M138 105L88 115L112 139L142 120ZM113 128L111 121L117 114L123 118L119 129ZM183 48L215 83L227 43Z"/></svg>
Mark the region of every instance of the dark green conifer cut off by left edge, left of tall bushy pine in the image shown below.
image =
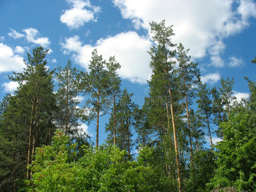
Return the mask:
<svg viewBox="0 0 256 192"><path fill-rule="evenodd" d="M17 95L6 95L1 102L0 191L18 191L17 179L26 177L28 122L23 102Z"/></svg>

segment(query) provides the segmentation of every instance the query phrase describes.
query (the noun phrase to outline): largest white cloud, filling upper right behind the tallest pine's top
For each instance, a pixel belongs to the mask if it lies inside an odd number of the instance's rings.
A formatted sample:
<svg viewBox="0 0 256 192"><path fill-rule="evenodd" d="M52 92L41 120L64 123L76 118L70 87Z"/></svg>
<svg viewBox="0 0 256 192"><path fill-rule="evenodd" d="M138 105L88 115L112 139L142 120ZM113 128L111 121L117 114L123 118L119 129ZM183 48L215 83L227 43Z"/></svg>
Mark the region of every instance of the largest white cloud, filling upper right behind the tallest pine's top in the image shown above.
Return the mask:
<svg viewBox="0 0 256 192"><path fill-rule="evenodd" d="M194 58L204 57L212 47L211 42L221 42L239 33L248 26L250 17L256 17L252 0L237 1L237 9L232 0L113 0L113 3L122 17L132 20L136 29L141 26L150 31L149 22L166 19L166 25L173 25L173 42L188 47Z"/></svg>

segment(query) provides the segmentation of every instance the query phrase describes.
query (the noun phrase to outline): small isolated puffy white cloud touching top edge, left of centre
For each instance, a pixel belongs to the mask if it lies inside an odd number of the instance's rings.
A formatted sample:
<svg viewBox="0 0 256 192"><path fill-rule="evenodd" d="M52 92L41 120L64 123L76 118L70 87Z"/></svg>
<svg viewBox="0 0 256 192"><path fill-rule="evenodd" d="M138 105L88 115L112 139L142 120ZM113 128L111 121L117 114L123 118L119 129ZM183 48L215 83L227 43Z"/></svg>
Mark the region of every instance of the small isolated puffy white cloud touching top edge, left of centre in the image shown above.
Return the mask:
<svg viewBox="0 0 256 192"><path fill-rule="evenodd" d="M67 0L67 2L72 4L72 9L65 10L60 20L62 23L67 24L68 28L77 29L83 26L85 22L97 21L95 14L100 12L99 6L92 6L89 0Z"/></svg>

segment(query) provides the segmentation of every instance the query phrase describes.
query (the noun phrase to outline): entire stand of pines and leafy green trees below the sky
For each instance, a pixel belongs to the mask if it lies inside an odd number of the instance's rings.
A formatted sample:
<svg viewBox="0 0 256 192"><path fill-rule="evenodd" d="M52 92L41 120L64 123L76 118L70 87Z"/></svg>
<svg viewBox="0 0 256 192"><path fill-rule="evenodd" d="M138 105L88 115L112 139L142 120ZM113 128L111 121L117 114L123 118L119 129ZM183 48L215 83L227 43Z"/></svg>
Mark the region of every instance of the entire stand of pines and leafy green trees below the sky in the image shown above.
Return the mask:
<svg viewBox="0 0 256 192"><path fill-rule="evenodd" d="M70 61L49 70L43 47L28 54L24 72L10 76L17 91L1 102L0 191L255 191L256 84L245 78L251 94L240 103L234 79L209 88L189 49L172 43L172 26L150 26L156 44L142 108L121 89L115 57L94 50L89 71L79 72ZM107 113L108 138L99 145ZM92 121L95 146L78 129ZM213 134L223 141L214 145Z"/></svg>

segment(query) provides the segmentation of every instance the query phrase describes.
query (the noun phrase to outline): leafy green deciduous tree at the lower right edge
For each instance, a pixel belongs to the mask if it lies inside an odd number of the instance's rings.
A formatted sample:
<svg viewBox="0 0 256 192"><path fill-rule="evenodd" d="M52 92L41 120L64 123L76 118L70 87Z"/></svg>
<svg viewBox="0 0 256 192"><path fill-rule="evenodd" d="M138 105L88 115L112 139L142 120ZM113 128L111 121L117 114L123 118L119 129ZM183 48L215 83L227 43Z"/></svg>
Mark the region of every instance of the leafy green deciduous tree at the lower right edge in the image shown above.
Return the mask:
<svg viewBox="0 0 256 192"><path fill-rule="evenodd" d="M255 191L256 132L255 121L250 121L253 114L255 111L247 109L230 113L227 122L221 124L223 141L216 145L218 168L211 186Z"/></svg>

